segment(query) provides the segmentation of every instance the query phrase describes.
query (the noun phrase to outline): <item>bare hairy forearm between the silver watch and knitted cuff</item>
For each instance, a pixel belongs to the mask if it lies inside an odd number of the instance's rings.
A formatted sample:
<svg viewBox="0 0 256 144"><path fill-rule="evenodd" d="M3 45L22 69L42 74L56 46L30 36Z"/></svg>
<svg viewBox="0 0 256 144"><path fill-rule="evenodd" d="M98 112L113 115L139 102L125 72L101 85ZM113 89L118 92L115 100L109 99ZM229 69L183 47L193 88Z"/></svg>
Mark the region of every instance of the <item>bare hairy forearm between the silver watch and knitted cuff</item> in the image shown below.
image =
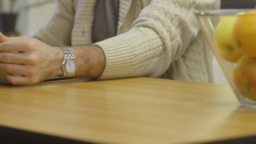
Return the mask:
<svg viewBox="0 0 256 144"><path fill-rule="evenodd" d="M78 46L72 47L72 51L77 61L75 77L98 78L101 76L106 60L100 47ZM57 75L63 75L61 69L57 70Z"/></svg>

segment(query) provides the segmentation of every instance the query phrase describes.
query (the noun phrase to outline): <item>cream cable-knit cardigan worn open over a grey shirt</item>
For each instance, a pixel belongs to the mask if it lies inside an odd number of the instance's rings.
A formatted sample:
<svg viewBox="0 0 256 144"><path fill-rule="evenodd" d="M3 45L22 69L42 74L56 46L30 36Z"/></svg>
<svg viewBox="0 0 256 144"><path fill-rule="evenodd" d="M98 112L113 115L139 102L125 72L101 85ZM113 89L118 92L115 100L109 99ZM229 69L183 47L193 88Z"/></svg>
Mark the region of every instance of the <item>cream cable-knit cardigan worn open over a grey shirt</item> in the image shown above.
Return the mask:
<svg viewBox="0 0 256 144"><path fill-rule="evenodd" d="M34 37L51 46L92 45L95 2L57 1L53 17ZM219 0L120 0L117 36L94 44L106 57L100 79L213 82L212 53L193 12L219 5Z"/></svg>

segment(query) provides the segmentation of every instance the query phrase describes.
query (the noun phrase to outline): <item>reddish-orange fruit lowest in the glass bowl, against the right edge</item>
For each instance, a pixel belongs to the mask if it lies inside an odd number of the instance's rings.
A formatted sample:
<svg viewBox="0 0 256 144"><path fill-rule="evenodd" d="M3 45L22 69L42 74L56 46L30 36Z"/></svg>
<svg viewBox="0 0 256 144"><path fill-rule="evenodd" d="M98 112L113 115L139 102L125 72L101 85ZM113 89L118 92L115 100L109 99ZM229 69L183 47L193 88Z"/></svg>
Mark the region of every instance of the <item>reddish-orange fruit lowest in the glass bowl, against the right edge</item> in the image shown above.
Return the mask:
<svg viewBox="0 0 256 144"><path fill-rule="evenodd" d="M248 99L256 101L256 58L243 56L234 69L234 82L238 91Z"/></svg>

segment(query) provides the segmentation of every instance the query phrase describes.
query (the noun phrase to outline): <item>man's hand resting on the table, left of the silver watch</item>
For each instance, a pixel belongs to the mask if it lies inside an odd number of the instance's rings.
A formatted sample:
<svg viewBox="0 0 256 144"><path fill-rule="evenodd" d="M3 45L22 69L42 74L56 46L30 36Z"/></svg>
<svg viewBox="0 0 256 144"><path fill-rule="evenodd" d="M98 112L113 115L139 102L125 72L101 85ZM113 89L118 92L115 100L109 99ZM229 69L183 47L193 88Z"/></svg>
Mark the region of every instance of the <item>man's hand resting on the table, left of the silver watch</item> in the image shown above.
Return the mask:
<svg viewBox="0 0 256 144"><path fill-rule="evenodd" d="M13 85L33 85L61 75L63 52L37 39L5 37L0 33L0 70ZM19 74L19 75L14 75Z"/></svg>

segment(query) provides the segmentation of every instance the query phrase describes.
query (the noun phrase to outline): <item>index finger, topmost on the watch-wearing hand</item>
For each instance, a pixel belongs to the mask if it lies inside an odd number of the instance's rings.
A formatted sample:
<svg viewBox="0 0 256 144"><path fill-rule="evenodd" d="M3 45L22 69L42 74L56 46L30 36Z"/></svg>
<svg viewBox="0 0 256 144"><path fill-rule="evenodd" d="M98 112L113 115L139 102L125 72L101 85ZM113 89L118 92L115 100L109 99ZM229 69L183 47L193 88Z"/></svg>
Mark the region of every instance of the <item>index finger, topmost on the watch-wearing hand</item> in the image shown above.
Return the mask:
<svg viewBox="0 0 256 144"><path fill-rule="evenodd" d="M33 41L27 41L22 39L4 41L0 43L0 52L26 52L33 50Z"/></svg>

